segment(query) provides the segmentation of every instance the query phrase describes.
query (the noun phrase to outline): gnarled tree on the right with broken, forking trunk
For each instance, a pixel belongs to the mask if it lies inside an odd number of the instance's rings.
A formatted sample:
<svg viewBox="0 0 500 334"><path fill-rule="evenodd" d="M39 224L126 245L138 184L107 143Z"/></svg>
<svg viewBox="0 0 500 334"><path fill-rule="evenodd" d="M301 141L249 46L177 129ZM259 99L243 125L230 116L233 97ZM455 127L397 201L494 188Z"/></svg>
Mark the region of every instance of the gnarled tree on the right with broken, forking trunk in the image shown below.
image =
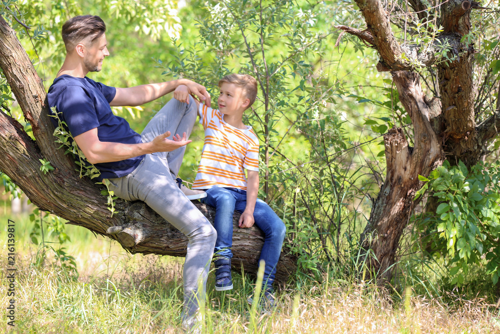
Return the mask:
<svg viewBox="0 0 500 334"><path fill-rule="evenodd" d="M399 238L407 225L411 210L416 204L414 193L420 188L418 175L428 176L444 159L443 147L451 164L462 160L466 166L477 162L484 154L488 141L498 136L500 111L479 124L475 124L474 87L472 81L473 45L462 43L461 38L469 34L470 10L483 9L476 2L450 0L438 6L443 31L430 48L442 42L449 45L448 58L437 64L440 101L427 102L415 73L402 72L416 64L430 66L438 59L435 56L412 52L420 46L399 46L394 38L387 13L379 0L355 0L367 31L338 27L365 44L375 48L380 61L378 71L392 72L399 99L411 118L414 130L414 148L408 147L400 129L391 129L384 136L387 174L385 182L373 203L371 215L361 242L372 254L368 261L375 270L379 282L390 279L390 269L399 244ZM421 0L410 0L409 5L425 19L423 13L428 4ZM431 8L428 9L432 11ZM426 22L423 20L422 22ZM439 49L431 50L431 54ZM411 52L409 52L411 51ZM405 57L401 57L401 53ZM411 60L412 62L408 61ZM431 121L431 123L429 122ZM432 202L432 201L431 201Z"/></svg>

